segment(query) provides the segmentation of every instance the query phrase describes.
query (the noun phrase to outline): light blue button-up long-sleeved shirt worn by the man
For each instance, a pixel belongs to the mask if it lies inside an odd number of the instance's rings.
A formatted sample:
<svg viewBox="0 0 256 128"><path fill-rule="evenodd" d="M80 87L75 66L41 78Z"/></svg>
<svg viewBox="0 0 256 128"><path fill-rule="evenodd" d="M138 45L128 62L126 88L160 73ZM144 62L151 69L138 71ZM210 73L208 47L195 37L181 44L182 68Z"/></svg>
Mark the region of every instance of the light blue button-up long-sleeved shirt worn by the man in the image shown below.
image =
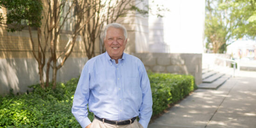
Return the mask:
<svg viewBox="0 0 256 128"><path fill-rule="evenodd" d="M90 59L84 66L75 94L72 113L82 128L91 123L88 110L111 121L139 116L144 128L152 115L148 74L135 56L123 53L115 64L108 53Z"/></svg>

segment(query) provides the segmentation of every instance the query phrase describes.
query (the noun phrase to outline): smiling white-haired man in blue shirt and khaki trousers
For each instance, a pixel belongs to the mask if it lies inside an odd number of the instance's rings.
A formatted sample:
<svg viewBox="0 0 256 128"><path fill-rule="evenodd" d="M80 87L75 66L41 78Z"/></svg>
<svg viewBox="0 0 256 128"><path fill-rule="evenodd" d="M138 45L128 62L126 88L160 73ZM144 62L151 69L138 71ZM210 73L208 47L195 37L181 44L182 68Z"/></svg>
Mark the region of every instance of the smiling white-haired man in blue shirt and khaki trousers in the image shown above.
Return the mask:
<svg viewBox="0 0 256 128"><path fill-rule="evenodd" d="M104 30L107 52L85 64L72 107L82 128L148 127L152 115L148 75L140 59L123 53L126 43L126 28L117 23L108 24ZM94 113L92 123L87 105Z"/></svg>

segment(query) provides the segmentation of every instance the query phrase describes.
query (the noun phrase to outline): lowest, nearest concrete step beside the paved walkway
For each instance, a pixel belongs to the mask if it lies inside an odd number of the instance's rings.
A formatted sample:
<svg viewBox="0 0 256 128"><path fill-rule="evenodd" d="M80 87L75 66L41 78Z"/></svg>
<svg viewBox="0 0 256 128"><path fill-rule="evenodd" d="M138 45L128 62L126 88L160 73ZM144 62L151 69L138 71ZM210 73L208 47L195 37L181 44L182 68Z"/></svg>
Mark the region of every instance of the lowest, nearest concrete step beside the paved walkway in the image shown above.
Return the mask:
<svg viewBox="0 0 256 128"><path fill-rule="evenodd" d="M198 85L197 87L200 89L217 89L223 83L225 83L225 81L227 81L230 77L231 77L231 75L222 75L222 77L220 77L219 79L217 79L216 81L214 81L212 83L202 83L202 84Z"/></svg>

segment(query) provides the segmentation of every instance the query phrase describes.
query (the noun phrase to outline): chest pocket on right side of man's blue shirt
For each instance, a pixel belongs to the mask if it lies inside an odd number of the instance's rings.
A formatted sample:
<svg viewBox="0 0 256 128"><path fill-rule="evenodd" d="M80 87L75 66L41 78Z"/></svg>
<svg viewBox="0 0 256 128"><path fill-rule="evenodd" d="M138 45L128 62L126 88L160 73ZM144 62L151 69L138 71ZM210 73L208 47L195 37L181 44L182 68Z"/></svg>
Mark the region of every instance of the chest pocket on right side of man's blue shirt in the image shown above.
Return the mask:
<svg viewBox="0 0 256 128"><path fill-rule="evenodd" d="M125 89L128 94L138 95L140 86L139 77L127 77L125 79Z"/></svg>

